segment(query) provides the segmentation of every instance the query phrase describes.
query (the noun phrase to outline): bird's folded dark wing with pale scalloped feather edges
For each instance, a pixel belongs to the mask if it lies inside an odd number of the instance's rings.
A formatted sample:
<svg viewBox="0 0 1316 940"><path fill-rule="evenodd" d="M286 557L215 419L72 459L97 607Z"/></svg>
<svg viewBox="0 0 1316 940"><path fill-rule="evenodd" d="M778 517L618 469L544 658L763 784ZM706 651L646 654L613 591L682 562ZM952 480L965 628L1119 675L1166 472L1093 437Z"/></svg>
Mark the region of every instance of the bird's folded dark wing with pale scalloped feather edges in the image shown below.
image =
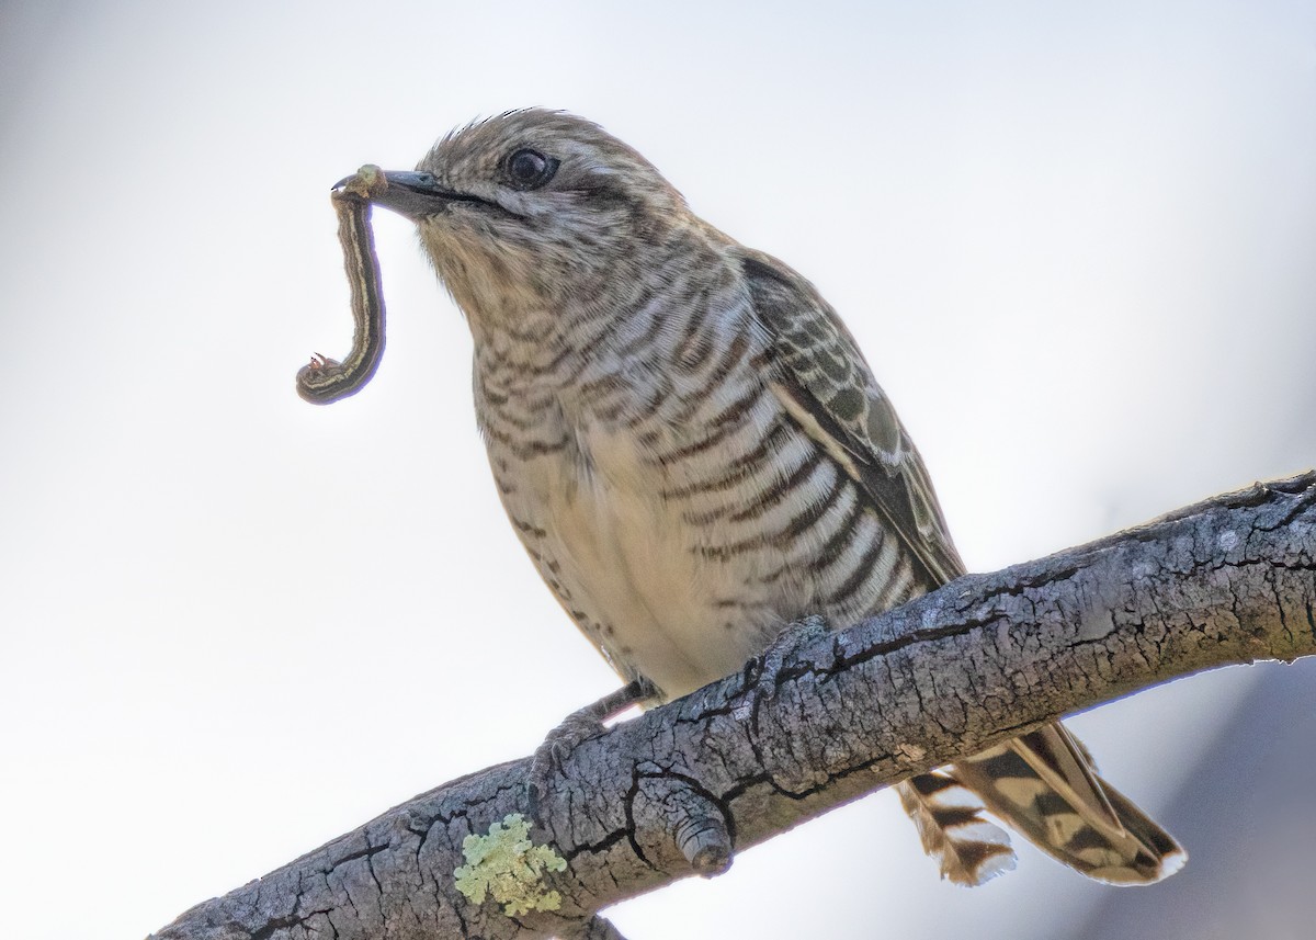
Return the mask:
<svg viewBox="0 0 1316 940"><path fill-rule="evenodd" d="M855 483L926 570L928 590L965 573L913 441L854 337L817 290L782 262L745 250L759 321L772 337L772 391Z"/></svg>

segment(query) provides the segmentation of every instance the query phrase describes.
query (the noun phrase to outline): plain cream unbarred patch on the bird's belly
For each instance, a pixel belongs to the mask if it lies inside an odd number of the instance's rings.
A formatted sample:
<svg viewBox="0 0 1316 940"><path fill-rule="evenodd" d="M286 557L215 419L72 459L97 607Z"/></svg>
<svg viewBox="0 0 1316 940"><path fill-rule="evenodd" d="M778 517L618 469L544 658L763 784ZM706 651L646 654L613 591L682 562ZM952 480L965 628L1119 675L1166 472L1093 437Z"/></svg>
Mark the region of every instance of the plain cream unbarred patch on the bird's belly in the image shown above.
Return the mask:
<svg viewBox="0 0 1316 940"><path fill-rule="evenodd" d="M719 600L749 578L707 562L663 496L671 481L633 434L576 425L571 448L522 465L504 502L537 520L519 527L522 541L586 635L619 671L675 698L738 669L757 642L753 631L720 628L729 617L717 619Z"/></svg>

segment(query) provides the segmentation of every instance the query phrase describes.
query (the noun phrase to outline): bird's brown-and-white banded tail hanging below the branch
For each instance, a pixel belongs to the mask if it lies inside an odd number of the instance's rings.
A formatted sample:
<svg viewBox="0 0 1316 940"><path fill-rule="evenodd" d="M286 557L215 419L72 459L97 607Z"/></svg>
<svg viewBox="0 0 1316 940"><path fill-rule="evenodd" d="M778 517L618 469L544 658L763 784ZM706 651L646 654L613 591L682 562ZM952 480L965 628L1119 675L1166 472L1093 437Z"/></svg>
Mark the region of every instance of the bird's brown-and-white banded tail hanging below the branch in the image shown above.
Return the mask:
<svg viewBox="0 0 1316 940"><path fill-rule="evenodd" d="M1037 848L1098 881L1149 885L1187 861L1165 829L1096 775L1087 750L1061 724L900 787L924 849L941 864L942 877L961 885L1013 868L1008 839L966 802L965 790Z"/></svg>

